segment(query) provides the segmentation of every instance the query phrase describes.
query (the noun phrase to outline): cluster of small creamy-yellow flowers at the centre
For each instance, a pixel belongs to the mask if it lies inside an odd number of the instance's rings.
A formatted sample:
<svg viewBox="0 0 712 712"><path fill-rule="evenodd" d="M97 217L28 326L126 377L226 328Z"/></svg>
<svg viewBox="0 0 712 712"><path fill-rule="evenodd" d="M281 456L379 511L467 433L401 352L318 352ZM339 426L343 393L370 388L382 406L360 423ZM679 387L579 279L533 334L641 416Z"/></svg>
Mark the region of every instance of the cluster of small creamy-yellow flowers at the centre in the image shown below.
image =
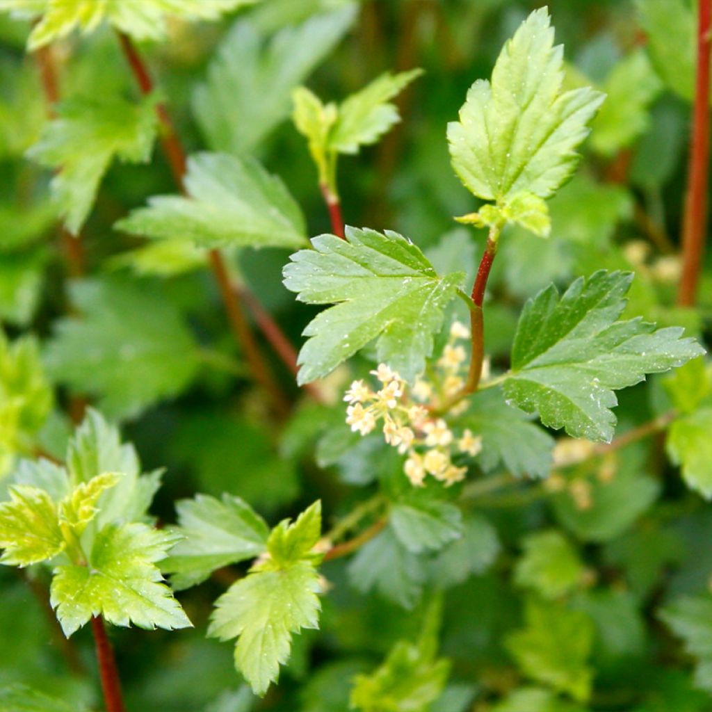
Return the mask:
<svg viewBox="0 0 712 712"><path fill-rule="evenodd" d="M458 454L473 457L482 448L481 438L471 431L464 430L456 436L444 419L431 415L434 398L451 397L463 387L460 372L467 355L456 341L468 337L467 328L455 322L437 362L434 381L417 380L409 394L407 384L397 372L380 364L371 372L379 381L379 389L372 390L363 380L357 380L344 396L349 404L346 422L352 431L367 435L380 426L387 444L407 454L403 469L414 486L422 486L428 475L446 486L463 480L467 468L454 464L453 457Z"/></svg>

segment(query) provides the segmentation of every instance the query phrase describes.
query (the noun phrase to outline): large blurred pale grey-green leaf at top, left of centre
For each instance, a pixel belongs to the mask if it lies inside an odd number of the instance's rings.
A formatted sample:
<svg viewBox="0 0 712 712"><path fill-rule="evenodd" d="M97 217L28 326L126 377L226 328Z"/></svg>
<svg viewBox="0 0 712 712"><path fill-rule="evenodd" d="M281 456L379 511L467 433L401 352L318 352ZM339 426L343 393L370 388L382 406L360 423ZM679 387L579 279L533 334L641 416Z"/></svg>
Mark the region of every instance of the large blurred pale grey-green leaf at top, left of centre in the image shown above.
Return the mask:
<svg viewBox="0 0 712 712"><path fill-rule="evenodd" d="M209 147L253 152L290 112L290 94L333 50L355 19L355 6L314 16L270 38L240 21L193 95L193 112Z"/></svg>

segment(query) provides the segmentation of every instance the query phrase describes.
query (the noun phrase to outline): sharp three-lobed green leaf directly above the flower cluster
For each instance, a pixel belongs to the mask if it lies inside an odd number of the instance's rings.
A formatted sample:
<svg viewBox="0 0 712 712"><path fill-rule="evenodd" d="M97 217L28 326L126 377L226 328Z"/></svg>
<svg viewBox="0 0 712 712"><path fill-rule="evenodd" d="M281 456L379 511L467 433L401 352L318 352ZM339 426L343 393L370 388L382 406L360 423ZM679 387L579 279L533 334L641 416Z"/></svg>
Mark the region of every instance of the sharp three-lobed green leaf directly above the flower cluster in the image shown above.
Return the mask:
<svg viewBox="0 0 712 712"><path fill-rule="evenodd" d="M303 332L311 338L299 354L300 384L376 338L379 362L405 379L421 372L463 273L440 278L417 246L390 231L347 228L347 240L321 235L312 244L291 257L284 283L300 301L336 305Z"/></svg>

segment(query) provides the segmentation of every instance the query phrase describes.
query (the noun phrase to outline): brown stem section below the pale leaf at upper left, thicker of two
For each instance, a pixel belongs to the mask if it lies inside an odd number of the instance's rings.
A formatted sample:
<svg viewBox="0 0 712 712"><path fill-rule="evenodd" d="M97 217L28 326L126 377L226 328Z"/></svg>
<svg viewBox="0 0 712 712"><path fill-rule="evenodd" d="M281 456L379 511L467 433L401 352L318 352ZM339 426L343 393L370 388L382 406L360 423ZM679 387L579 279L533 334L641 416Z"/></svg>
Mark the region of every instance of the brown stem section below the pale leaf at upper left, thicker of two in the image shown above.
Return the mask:
<svg viewBox="0 0 712 712"><path fill-rule="evenodd" d="M232 288L230 276L225 261L219 250L209 253L213 274L220 288L225 310L230 326L238 342L242 346L248 366L255 380L268 392L272 398L276 412L284 416L289 412L289 405L283 397L281 390L273 380L267 366L258 350L250 326L237 297L236 290Z"/></svg>

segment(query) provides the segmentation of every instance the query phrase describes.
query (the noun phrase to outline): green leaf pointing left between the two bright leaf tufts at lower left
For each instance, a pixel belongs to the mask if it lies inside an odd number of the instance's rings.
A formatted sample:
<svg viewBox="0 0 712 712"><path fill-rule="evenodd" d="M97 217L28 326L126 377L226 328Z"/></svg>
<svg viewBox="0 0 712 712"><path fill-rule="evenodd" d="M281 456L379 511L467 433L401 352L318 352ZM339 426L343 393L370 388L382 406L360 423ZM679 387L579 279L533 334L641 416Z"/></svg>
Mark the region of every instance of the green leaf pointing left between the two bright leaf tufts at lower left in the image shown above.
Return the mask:
<svg viewBox="0 0 712 712"><path fill-rule="evenodd" d="M239 497L224 494L222 501L199 494L176 504L184 539L162 562L180 590L206 580L216 569L261 555L269 530L264 520Z"/></svg>

